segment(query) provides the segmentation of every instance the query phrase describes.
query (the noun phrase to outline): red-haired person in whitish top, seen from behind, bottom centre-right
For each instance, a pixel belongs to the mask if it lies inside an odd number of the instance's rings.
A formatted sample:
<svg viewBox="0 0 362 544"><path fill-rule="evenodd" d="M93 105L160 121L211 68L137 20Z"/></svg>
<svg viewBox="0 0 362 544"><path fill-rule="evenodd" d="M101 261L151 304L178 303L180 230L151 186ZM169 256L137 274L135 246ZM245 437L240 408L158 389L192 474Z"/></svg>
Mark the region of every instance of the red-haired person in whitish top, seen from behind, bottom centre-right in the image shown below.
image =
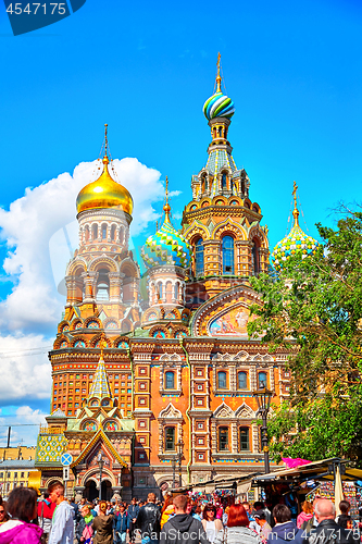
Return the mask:
<svg viewBox="0 0 362 544"><path fill-rule="evenodd" d="M230 505L227 526L217 533L213 544L261 544L260 536L248 526L248 512L244 505Z"/></svg>

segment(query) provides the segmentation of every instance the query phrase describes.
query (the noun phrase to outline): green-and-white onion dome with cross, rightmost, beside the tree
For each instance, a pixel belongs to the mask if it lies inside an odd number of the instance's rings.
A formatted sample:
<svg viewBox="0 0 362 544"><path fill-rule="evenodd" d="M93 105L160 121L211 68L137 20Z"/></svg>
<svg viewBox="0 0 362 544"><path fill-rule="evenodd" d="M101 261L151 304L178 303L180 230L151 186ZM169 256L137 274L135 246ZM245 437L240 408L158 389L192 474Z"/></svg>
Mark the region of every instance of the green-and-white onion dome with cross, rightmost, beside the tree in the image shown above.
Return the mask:
<svg viewBox="0 0 362 544"><path fill-rule="evenodd" d="M319 243L314 238L312 238L312 236L308 236L299 226L297 188L298 187L295 182L295 188L292 191L295 198L295 209L292 211L295 224L290 233L280 242L278 242L272 252L272 262L277 271L282 270L283 263L290 259L291 256L300 256L302 259L304 259L305 257L314 255L319 247Z"/></svg>

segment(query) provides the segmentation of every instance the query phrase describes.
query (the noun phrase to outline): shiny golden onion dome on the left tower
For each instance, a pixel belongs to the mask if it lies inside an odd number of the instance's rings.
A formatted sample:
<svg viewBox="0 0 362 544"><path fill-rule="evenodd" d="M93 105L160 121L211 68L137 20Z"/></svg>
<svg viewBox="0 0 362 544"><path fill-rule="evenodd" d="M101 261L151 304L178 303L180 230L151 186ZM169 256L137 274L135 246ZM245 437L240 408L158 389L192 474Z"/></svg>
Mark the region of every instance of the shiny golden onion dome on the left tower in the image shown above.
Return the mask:
<svg viewBox="0 0 362 544"><path fill-rule="evenodd" d="M108 170L110 160L103 157L103 172L96 182L88 183L77 196L77 213L96 208L115 208L132 215L134 201L130 193L115 182Z"/></svg>

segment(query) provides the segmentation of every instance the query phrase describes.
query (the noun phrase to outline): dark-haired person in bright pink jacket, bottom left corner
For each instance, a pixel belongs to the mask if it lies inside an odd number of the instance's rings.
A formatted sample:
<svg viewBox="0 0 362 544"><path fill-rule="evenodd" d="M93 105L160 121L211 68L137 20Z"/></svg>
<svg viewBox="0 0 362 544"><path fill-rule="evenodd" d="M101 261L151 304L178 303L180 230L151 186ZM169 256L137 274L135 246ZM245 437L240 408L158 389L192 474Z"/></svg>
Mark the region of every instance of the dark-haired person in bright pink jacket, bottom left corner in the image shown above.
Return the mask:
<svg viewBox="0 0 362 544"><path fill-rule="evenodd" d="M15 487L10 493L7 509L11 519L0 526L0 544L40 544L42 529L32 523L37 518L37 498L33 487Z"/></svg>

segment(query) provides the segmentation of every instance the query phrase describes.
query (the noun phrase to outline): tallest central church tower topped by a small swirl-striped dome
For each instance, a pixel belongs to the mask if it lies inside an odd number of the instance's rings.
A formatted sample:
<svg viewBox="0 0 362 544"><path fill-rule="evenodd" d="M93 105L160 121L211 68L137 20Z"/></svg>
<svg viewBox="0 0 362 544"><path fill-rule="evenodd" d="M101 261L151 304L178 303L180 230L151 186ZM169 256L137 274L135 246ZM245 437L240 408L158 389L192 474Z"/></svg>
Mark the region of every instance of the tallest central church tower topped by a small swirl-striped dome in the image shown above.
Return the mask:
<svg viewBox="0 0 362 544"><path fill-rule="evenodd" d="M235 106L222 91L220 53L216 66L216 91L203 106L212 138L208 161L191 178L192 200L183 215L183 234L192 247L188 301L194 307L269 267L267 227L260 224L250 180L236 166L228 140Z"/></svg>

